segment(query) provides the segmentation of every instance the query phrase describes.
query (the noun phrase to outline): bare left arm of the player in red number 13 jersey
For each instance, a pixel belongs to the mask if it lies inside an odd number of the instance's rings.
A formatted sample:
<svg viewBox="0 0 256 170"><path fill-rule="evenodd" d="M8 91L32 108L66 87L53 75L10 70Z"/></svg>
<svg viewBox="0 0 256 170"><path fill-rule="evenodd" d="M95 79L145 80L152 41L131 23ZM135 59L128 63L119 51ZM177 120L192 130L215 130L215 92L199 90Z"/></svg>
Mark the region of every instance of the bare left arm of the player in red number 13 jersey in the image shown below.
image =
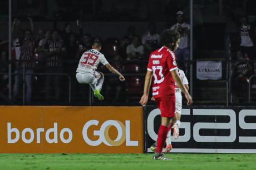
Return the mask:
<svg viewBox="0 0 256 170"><path fill-rule="evenodd" d="M152 81L152 73L153 73L152 71L147 71L147 73L146 73L144 92L143 92L143 96L140 99L140 104L142 106L146 105L147 99L149 98L149 88L150 88L151 81Z"/></svg>

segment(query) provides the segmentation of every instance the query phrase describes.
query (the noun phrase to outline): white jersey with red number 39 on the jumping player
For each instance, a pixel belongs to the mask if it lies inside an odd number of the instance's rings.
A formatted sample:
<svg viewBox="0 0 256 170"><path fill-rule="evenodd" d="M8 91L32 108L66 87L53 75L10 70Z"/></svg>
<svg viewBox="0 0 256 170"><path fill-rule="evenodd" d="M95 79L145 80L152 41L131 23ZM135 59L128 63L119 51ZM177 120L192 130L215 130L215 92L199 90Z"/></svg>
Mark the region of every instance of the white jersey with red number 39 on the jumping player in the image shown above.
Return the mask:
<svg viewBox="0 0 256 170"><path fill-rule="evenodd" d="M76 72L93 74L100 63L105 66L109 62L107 62L104 54L97 51L97 49L90 49L82 54Z"/></svg>

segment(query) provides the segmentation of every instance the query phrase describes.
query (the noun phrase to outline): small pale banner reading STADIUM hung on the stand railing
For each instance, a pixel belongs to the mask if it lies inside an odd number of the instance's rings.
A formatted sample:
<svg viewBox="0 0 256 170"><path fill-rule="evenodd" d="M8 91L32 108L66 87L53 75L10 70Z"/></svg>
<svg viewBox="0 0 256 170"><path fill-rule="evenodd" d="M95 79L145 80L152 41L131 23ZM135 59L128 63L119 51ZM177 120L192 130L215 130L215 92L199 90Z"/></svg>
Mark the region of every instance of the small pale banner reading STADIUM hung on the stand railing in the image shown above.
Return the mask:
<svg viewBox="0 0 256 170"><path fill-rule="evenodd" d="M196 62L196 78L205 79L221 79L222 66L221 62L198 61Z"/></svg>

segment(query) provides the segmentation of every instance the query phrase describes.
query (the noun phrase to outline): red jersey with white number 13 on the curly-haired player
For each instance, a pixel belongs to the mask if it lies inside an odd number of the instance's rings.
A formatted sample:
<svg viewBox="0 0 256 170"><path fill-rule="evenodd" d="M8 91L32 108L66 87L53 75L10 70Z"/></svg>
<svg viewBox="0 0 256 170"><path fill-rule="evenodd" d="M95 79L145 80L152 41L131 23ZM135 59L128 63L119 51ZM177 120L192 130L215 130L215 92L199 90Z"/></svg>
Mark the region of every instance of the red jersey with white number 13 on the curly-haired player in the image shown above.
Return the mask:
<svg viewBox="0 0 256 170"><path fill-rule="evenodd" d="M152 52L147 64L147 71L153 72L152 96L175 97L175 82L171 71L178 69L173 51L163 46Z"/></svg>

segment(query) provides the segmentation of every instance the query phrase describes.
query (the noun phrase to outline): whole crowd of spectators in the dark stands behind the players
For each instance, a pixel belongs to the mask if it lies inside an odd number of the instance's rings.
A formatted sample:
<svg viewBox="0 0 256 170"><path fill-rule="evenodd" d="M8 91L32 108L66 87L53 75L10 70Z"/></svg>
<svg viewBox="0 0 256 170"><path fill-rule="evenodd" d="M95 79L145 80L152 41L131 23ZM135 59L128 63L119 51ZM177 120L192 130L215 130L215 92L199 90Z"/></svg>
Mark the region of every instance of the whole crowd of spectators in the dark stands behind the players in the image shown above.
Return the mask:
<svg viewBox="0 0 256 170"><path fill-rule="evenodd" d="M248 23L246 16L227 10L226 32L230 37L232 61L232 93L239 102L247 99L248 80L256 74L255 43L256 29L253 23ZM172 24L168 28L180 32L179 48L175 51L179 67L188 74L186 61L190 60L190 24L186 22L187 13L173 13ZM106 74L103 93L106 101L126 102L139 99L144 83L146 62L149 54L160 47L160 33L155 23L149 23L143 34L136 32L135 26L129 26L122 38L106 38L92 36L85 31L82 22L77 20L78 32L73 31L71 23L63 28L57 20L52 27L43 30L35 29L33 19L27 16L30 28L23 28L19 19L13 19L12 24L12 101L21 104L22 87L25 84L25 103L60 104L68 100L68 81L71 81L72 103L85 104L90 97L90 88L76 81L76 67L83 52L91 48L94 39L102 42L102 53L110 63L121 73L125 73L125 83L115 81L115 77ZM175 20L175 21L174 21ZM239 22L240 21L240 22ZM195 21L196 22L196 21ZM239 24L238 24L239 22ZM195 24L195 49L206 46L205 31ZM201 36L203 34L203 36ZM1 42L1 96L8 96L8 42ZM209 42L208 42L209 43ZM103 67L99 68L107 73ZM38 75L36 73L44 73ZM23 74L25 76L23 77ZM134 76L135 75L135 76ZM42 88L43 87L43 88ZM256 82L252 83L256 89ZM23 91L24 91L23 89ZM97 101L94 101L97 102Z"/></svg>

